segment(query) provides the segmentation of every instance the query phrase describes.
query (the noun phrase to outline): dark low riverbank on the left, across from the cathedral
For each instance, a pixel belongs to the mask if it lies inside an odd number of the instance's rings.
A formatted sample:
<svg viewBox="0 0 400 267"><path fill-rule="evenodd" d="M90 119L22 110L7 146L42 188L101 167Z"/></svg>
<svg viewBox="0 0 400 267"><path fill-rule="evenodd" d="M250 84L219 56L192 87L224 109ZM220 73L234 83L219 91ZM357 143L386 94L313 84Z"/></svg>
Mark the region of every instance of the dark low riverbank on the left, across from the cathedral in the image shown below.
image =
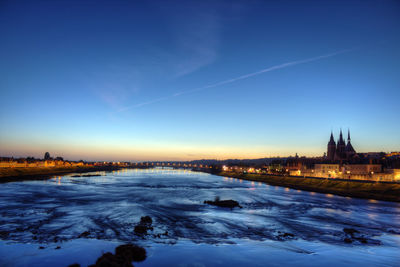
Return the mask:
<svg viewBox="0 0 400 267"><path fill-rule="evenodd" d="M0 168L0 183L45 180L54 175L69 173L86 173L95 171L120 170L117 166L85 166L85 167L47 167L47 168Z"/></svg>

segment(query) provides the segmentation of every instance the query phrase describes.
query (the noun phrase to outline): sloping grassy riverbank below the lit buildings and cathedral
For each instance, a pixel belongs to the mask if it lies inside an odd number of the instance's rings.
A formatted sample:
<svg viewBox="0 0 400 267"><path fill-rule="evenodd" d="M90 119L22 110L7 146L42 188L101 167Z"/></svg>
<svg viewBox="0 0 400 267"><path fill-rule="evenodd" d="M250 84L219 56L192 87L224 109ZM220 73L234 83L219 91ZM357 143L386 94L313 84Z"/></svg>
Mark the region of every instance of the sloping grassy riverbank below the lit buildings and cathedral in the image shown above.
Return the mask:
<svg viewBox="0 0 400 267"><path fill-rule="evenodd" d="M366 198L400 202L400 184L369 181L344 181L321 178L303 178L274 176L265 174L240 174L234 172L217 172L214 175L234 177L243 180L263 182L270 185L289 187L298 190L345 197Z"/></svg>

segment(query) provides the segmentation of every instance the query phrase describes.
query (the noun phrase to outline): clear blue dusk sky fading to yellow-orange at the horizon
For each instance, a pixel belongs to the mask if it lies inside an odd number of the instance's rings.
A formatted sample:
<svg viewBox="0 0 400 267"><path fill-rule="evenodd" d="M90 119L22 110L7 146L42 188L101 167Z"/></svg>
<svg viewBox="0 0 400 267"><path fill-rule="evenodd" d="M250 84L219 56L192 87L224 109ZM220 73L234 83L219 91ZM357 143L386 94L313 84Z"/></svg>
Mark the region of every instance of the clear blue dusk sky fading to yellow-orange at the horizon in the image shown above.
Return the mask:
<svg viewBox="0 0 400 267"><path fill-rule="evenodd" d="M0 1L0 156L400 151L400 2Z"/></svg>

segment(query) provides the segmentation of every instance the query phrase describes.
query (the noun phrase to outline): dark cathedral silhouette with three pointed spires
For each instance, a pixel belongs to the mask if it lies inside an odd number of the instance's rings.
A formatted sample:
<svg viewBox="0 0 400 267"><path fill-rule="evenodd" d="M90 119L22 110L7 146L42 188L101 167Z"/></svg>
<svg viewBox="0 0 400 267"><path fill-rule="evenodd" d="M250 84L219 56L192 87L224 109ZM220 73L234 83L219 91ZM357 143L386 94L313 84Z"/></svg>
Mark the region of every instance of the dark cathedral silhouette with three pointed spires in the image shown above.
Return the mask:
<svg viewBox="0 0 400 267"><path fill-rule="evenodd" d="M350 160L356 155L356 151L350 142L350 130L347 136L347 145L343 139L342 130L340 130L339 140L336 144L333 139L333 133L331 132L331 139L328 143L328 154L327 158L329 160Z"/></svg>

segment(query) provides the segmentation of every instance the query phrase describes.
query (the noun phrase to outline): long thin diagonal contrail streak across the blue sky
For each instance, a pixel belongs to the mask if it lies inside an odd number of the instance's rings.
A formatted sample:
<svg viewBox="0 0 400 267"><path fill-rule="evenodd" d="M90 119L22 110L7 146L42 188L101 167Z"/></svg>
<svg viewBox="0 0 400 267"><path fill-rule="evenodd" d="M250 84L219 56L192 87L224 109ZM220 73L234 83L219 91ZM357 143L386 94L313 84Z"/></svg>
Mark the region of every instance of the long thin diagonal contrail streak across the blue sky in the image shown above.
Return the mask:
<svg viewBox="0 0 400 267"><path fill-rule="evenodd" d="M253 77L253 76L257 76L257 75L260 75L260 74L263 74L263 73L267 73L267 72L270 72L270 71L284 69L284 68L288 68L288 67L304 64L304 63L309 63L309 62L318 61L318 60L325 59L325 58L334 57L334 56L337 56L337 55L340 55L340 54L344 54L344 53L347 53L347 52L350 52L350 51L353 51L353 50L355 50L355 48L340 50L340 51L337 51L337 52L334 52L334 53L331 53L331 54L326 54L326 55L322 55L322 56L318 56L318 57L312 57L312 58L307 58L307 59L302 59L302 60L297 60L297 61L286 62L286 63L275 65L275 66L272 66L272 67L269 67L269 68L266 68L266 69L262 69L262 70L259 70L259 71L253 72L253 73L249 73L249 74L245 74L245 75L242 75L242 76L239 76L239 77L236 77L236 78L232 78L232 79L229 79L229 80L225 80L225 81L209 84L209 85L206 85L206 86L203 86L203 87L194 88L194 89L191 89L191 90L181 91L181 92L169 95L169 96L160 97L160 98L153 99L153 100L150 100L150 101L147 101L147 102L143 102L143 103L139 103L139 104L136 104L136 105L133 105L133 106L130 106L130 107L125 107L125 108L120 109L119 112L126 111L126 110L129 110L129 109L132 109L132 108L138 108L138 107L154 104L154 103L157 103L157 102L160 102L160 101L163 101L163 100L170 99L172 97L177 97L177 96L181 96L181 95L185 95L185 94L190 94L190 93L194 93L194 92L198 92L198 91L203 91L205 89L214 88L214 87L218 87L218 86L229 84L229 83L234 83L234 82L237 82L237 81L240 81L240 80L244 80L244 79L247 79L247 78L250 78L250 77Z"/></svg>

